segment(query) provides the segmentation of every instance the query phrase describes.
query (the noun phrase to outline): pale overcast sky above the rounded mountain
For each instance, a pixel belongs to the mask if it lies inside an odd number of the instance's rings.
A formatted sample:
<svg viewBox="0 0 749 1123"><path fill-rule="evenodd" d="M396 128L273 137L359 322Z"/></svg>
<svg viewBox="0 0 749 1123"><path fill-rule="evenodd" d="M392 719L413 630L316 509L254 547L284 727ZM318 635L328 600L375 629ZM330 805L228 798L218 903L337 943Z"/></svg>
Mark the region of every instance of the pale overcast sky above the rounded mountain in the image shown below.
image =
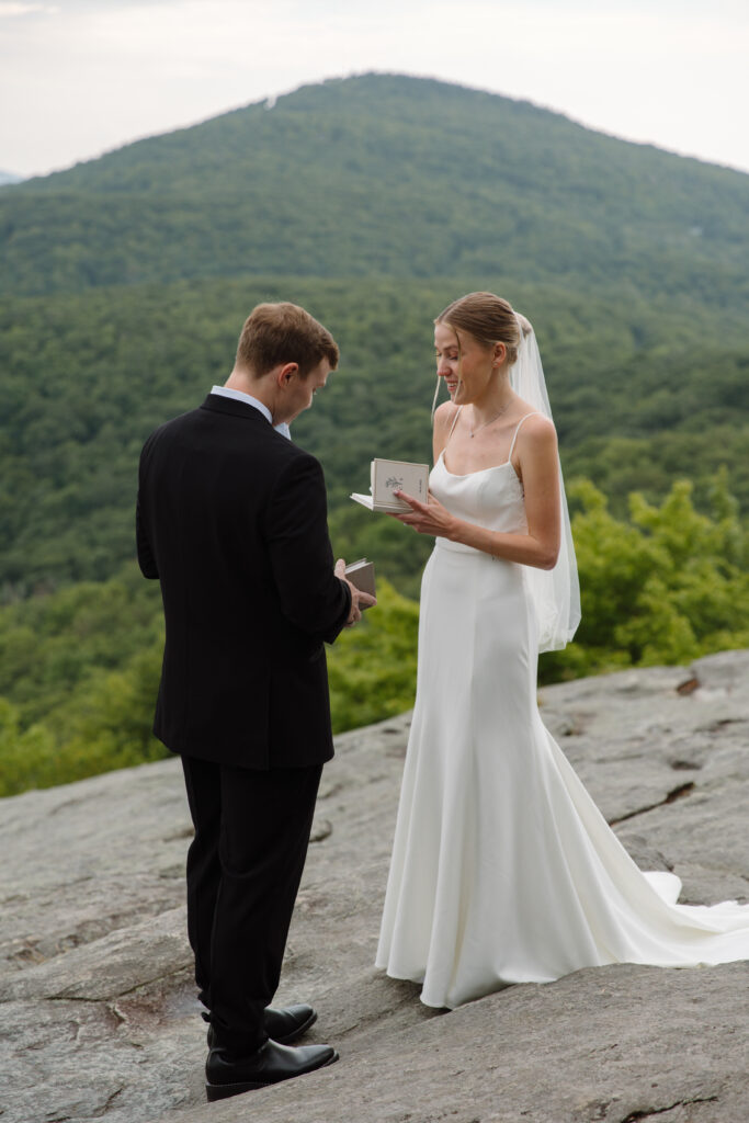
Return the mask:
<svg viewBox="0 0 749 1123"><path fill-rule="evenodd" d="M374 70L749 171L748 61L749 0L0 0L0 170Z"/></svg>

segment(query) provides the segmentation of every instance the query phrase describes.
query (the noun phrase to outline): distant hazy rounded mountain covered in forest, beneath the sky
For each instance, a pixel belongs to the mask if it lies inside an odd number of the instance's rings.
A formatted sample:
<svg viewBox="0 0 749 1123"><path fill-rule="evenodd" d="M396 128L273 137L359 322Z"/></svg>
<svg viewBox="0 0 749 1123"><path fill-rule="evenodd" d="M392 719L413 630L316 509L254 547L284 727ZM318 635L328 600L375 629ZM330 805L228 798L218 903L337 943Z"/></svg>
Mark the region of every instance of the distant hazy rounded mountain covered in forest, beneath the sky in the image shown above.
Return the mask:
<svg viewBox="0 0 749 1123"><path fill-rule="evenodd" d="M4 291L231 274L564 279L742 307L749 180L527 102L365 75L6 189Z"/></svg>

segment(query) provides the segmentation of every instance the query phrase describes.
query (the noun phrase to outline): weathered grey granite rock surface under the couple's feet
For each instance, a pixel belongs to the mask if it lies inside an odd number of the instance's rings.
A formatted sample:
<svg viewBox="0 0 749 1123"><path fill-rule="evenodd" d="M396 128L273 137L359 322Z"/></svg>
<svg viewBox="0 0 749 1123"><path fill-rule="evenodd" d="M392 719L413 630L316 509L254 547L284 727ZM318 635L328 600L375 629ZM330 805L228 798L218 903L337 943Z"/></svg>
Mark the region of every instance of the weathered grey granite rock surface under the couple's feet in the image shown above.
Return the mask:
<svg viewBox="0 0 749 1123"><path fill-rule="evenodd" d="M749 896L749 651L541 691L643 868ZM747 964L590 968L449 1014L373 967L409 715L337 739L276 1001L339 1063L204 1101L179 761L0 801L2 1123L746 1123Z"/></svg>

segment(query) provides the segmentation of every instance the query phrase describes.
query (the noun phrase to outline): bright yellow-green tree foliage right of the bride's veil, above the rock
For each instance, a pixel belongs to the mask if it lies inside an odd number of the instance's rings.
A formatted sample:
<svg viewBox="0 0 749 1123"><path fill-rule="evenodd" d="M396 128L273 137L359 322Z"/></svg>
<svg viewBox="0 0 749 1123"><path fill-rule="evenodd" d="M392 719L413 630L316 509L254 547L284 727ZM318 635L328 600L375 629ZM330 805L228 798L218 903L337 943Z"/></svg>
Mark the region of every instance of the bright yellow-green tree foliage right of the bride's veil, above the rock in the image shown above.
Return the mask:
<svg viewBox="0 0 749 1123"><path fill-rule="evenodd" d="M569 494L582 505L573 533L583 619L569 648L542 657L544 681L749 646L749 533L725 473L713 483L712 515L695 511L688 481L659 506L633 493L631 523L614 519L588 481Z"/></svg>

